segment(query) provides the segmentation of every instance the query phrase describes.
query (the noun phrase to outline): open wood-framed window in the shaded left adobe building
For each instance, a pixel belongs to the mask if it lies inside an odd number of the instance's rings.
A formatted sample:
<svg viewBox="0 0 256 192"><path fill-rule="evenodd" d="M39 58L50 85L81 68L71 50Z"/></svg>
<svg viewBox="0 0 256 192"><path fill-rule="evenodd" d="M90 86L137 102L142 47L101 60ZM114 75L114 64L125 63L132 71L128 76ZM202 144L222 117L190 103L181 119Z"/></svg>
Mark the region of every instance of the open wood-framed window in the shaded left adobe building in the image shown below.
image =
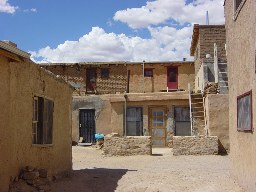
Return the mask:
<svg viewBox="0 0 256 192"><path fill-rule="evenodd" d="M34 96L33 105L33 144L52 144L53 101Z"/></svg>

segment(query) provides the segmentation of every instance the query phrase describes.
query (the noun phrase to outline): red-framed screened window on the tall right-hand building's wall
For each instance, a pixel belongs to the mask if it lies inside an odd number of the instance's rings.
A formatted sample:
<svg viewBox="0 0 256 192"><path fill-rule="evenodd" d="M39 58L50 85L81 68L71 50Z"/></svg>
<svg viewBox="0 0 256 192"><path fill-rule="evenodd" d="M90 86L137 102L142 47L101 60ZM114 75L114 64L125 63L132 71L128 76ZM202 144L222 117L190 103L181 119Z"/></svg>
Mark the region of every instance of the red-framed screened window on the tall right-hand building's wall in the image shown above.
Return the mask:
<svg viewBox="0 0 256 192"><path fill-rule="evenodd" d="M252 91L236 97L237 130L252 131Z"/></svg>

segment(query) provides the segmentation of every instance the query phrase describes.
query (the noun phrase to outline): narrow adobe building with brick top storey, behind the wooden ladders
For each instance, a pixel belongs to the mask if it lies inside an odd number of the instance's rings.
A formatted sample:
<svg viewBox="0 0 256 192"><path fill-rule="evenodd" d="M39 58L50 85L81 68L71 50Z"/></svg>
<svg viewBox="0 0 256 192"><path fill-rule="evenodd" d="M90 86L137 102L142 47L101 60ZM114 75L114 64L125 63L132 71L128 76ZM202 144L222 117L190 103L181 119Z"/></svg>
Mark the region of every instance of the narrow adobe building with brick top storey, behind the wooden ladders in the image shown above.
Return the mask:
<svg viewBox="0 0 256 192"><path fill-rule="evenodd" d="M205 97L209 136L218 136L219 151L229 152L228 71L225 25L194 24L190 56L195 57L195 92L206 82L218 83L218 94ZM215 48L214 48L215 46Z"/></svg>

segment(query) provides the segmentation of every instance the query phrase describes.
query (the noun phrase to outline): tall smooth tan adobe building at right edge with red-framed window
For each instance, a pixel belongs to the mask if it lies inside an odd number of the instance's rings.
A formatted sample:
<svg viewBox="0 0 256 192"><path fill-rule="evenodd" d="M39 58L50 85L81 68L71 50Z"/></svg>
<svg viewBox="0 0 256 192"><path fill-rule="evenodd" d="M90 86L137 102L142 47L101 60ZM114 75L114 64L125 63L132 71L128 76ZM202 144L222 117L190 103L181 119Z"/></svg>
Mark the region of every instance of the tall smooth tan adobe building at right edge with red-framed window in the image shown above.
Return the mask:
<svg viewBox="0 0 256 192"><path fill-rule="evenodd" d="M228 83L230 176L247 192L256 191L255 1L224 2Z"/></svg>

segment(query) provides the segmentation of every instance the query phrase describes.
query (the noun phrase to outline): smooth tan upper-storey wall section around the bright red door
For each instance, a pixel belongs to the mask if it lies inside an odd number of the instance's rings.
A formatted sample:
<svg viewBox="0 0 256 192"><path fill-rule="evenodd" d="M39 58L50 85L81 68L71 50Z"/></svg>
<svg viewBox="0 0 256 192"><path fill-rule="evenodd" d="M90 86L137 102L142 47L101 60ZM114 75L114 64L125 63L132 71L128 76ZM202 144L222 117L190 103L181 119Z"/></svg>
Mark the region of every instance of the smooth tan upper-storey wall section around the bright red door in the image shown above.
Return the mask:
<svg viewBox="0 0 256 192"><path fill-rule="evenodd" d="M188 83L190 83L191 90L194 89L194 63L173 63L172 66L178 67L178 86L180 89L188 90ZM170 64L154 63L150 66L145 64L145 68L153 68L153 77L144 77L145 92L159 92L167 89L167 67ZM127 70L130 70L130 85L129 93L142 93L143 91L143 66L140 64L127 64Z"/></svg>

